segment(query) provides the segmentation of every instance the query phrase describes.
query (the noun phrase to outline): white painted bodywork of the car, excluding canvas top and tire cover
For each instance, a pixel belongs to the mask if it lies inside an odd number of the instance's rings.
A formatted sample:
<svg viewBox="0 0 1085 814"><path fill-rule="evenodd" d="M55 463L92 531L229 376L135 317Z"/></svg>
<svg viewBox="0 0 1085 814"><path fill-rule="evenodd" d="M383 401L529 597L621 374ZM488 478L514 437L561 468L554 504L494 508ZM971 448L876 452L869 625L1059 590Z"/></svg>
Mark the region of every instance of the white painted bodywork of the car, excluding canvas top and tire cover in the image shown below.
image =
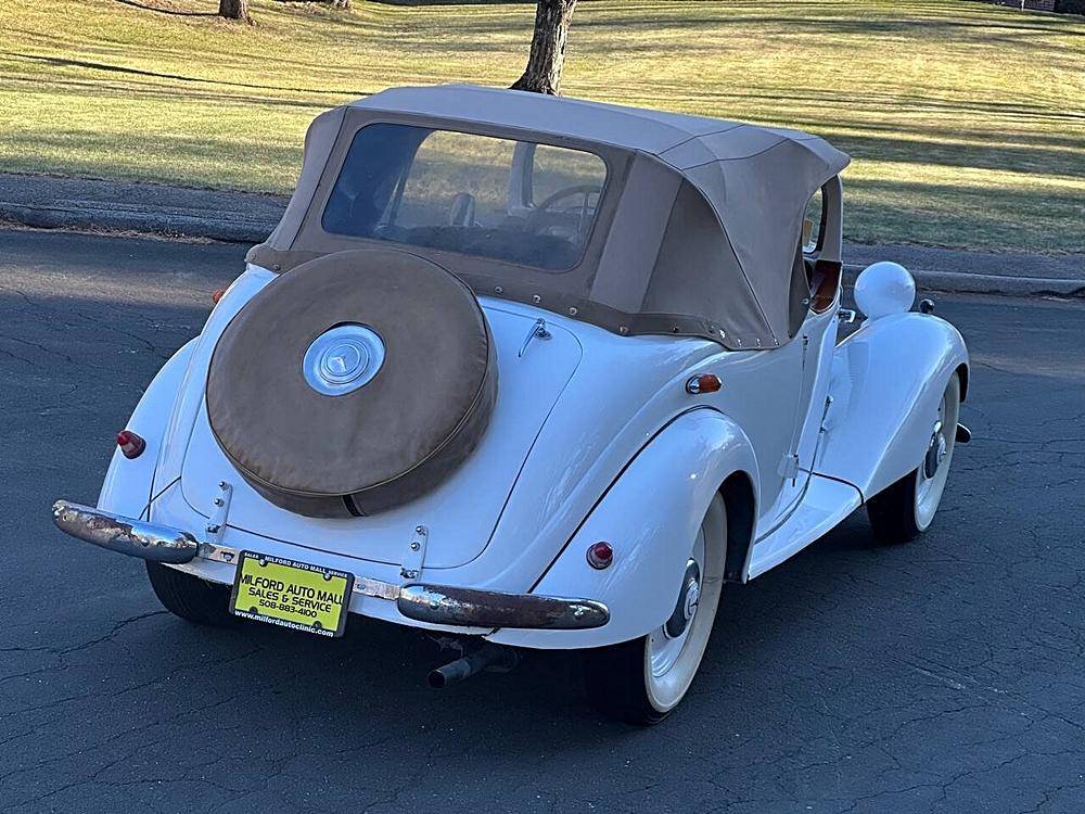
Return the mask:
<svg viewBox="0 0 1085 814"><path fill-rule="evenodd" d="M916 468L945 382L968 365L957 330L916 313L868 320L838 345L833 308L807 320L808 343L731 352L698 339L614 336L531 306L484 300L502 389L482 446L414 504L372 518L319 520L279 509L238 479L203 411L218 333L271 279L250 266L201 335L165 365L128 423L149 449L135 461L114 454L98 507L148 517L156 495L148 519L203 529L219 482L228 480L233 496L224 546L394 584L404 582L403 556L421 524L430 535L427 580L597 599L611 611L607 625L588 631L445 628L521 647L598 647L659 626L685 565L667 540L692 534L729 478L748 480L756 506L752 545L732 578L745 582L783 562ZM533 342L519 357L538 318L554 339ZM723 389L689 395L686 382L703 372L719 376ZM797 476L786 476L781 463L795 449ZM481 499L463 497L478 493ZM272 527L276 536L250 531ZM585 559L600 539L614 545L613 569L598 571ZM177 568L233 581L230 563ZM390 599L356 594L350 611L437 627L403 616Z"/></svg>

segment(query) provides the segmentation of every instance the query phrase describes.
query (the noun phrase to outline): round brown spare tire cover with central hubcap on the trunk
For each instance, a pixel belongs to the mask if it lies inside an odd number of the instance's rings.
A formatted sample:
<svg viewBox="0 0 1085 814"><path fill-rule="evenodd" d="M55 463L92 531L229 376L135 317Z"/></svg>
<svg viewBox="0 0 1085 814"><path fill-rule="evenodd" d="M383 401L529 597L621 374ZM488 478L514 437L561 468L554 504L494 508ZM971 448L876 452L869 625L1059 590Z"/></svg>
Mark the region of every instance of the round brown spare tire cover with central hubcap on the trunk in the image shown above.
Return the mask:
<svg viewBox="0 0 1085 814"><path fill-rule="evenodd" d="M370 514L433 488L475 447L496 398L474 294L393 250L281 275L227 326L207 371L219 446L268 500L311 517Z"/></svg>

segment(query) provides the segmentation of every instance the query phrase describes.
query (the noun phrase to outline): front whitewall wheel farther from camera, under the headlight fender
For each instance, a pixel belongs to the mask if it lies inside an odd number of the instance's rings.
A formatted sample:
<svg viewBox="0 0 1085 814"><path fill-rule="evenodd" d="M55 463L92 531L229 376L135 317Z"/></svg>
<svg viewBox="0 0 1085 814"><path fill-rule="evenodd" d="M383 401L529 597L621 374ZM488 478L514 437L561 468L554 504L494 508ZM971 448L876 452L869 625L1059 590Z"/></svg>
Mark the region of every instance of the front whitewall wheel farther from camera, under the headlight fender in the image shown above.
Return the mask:
<svg viewBox="0 0 1085 814"><path fill-rule="evenodd" d="M934 513L942 503L949 478L959 417L960 379L954 373L939 404L923 461L916 470L867 501L867 516L879 542L907 543L934 522Z"/></svg>

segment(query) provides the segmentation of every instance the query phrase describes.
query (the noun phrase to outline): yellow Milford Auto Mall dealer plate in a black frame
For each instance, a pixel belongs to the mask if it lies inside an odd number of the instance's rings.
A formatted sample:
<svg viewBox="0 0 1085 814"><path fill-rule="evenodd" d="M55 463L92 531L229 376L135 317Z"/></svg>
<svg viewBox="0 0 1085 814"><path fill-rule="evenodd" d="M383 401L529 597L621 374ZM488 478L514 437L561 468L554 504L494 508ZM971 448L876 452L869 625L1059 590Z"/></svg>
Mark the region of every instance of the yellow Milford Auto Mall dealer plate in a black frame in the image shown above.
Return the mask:
<svg viewBox="0 0 1085 814"><path fill-rule="evenodd" d="M354 574L242 551L230 611L319 636L342 636Z"/></svg>

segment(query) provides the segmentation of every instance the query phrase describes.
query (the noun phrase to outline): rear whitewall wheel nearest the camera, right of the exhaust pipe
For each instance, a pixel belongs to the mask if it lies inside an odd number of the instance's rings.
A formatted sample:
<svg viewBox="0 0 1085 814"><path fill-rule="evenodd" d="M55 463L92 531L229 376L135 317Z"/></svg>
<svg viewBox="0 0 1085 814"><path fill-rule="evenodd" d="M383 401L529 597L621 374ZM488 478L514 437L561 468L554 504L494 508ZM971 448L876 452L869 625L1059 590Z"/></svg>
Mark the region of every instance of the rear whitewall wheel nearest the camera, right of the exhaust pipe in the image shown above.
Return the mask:
<svg viewBox="0 0 1085 814"><path fill-rule="evenodd" d="M591 703L609 717L654 724L678 705L697 675L719 607L727 514L718 493L689 546L674 613L647 636L585 653Z"/></svg>

